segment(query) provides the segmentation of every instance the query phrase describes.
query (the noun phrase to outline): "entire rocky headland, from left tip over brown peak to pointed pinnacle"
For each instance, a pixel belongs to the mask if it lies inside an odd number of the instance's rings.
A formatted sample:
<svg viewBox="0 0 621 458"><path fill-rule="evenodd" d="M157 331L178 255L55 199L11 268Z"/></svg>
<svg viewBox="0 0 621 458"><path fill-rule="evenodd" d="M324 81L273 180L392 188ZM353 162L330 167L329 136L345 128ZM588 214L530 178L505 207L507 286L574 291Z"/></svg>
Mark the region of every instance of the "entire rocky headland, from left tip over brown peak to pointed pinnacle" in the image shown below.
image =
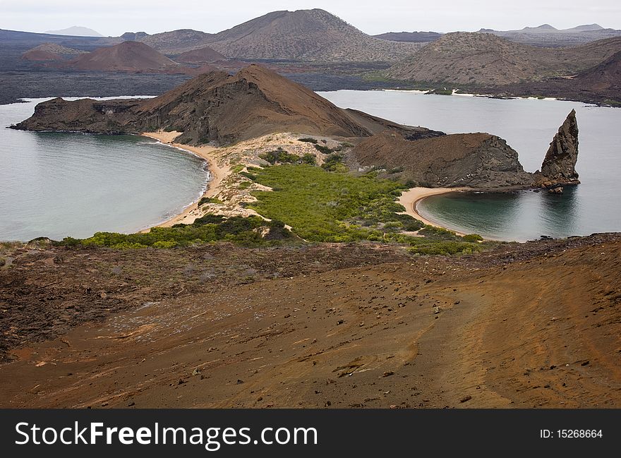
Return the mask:
<svg viewBox="0 0 621 458"><path fill-rule="evenodd" d="M297 132L347 140L353 167L402 169L400 178L428 187L479 189L574 184L577 122L569 114L540 172L530 174L506 141L489 133L452 134L402 126L340 109L315 92L262 66L236 75L205 73L150 100L60 98L38 104L14 128L29 131L143 133L176 131L176 143L231 145L270 133Z"/></svg>

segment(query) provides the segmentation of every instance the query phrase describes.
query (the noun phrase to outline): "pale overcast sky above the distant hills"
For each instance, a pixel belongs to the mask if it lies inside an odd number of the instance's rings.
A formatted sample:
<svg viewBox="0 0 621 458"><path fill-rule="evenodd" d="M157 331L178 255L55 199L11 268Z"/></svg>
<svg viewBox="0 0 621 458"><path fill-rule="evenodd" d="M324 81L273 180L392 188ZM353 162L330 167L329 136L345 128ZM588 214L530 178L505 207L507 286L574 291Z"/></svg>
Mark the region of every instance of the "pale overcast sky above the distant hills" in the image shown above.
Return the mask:
<svg viewBox="0 0 621 458"><path fill-rule="evenodd" d="M371 35L433 30L512 30L598 23L621 29L619 0L0 0L0 28L44 32L71 25L103 35L181 28L219 32L270 11L322 8Z"/></svg>

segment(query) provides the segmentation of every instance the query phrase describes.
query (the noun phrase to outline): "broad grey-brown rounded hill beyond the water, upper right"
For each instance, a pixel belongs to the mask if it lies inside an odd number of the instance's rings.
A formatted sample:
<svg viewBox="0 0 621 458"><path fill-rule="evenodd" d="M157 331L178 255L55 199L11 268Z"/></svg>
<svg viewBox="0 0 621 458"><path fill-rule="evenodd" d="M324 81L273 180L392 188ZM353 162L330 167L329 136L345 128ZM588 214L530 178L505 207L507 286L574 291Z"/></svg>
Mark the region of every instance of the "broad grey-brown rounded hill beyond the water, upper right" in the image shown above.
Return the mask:
<svg viewBox="0 0 621 458"><path fill-rule="evenodd" d="M548 76L572 75L621 50L621 38L581 47L531 47L488 33L454 32L390 68L402 80L462 85L507 85Z"/></svg>

